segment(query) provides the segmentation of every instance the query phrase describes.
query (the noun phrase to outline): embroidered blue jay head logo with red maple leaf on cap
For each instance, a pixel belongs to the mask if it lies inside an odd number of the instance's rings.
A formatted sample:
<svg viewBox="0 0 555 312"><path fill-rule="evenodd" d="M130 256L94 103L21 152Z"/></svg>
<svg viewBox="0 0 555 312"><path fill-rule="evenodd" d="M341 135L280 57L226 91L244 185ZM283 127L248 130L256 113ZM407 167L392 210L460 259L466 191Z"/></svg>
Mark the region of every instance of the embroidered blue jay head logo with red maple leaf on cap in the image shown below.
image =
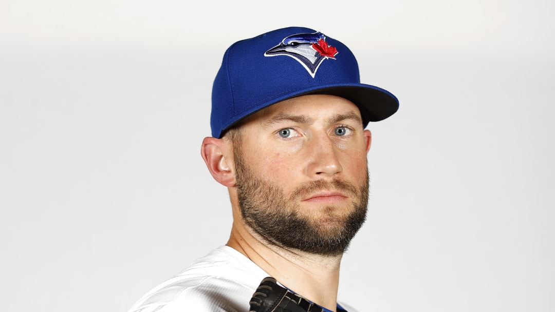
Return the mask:
<svg viewBox="0 0 555 312"><path fill-rule="evenodd" d="M265 57L287 55L299 61L314 78L316 70L325 59L335 59L337 49L327 45L326 37L320 32L295 34L283 39L280 44L264 53Z"/></svg>

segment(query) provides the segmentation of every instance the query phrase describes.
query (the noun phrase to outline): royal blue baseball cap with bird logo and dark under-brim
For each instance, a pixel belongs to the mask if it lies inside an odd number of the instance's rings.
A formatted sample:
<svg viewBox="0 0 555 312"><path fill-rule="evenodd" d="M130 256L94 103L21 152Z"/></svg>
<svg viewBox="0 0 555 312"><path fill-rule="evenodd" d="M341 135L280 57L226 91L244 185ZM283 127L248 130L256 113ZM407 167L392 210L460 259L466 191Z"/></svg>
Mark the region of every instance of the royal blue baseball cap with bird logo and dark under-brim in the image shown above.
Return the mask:
<svg viewBox="0 0 555 312"><path fill-rule="evenodd" d="M360 83L359 65L346 45L310 28L282 28L226 50L212 89L212 136L222 137L256 111L309 94L350 100L365 127L399 107L395 95Z"/></svg>

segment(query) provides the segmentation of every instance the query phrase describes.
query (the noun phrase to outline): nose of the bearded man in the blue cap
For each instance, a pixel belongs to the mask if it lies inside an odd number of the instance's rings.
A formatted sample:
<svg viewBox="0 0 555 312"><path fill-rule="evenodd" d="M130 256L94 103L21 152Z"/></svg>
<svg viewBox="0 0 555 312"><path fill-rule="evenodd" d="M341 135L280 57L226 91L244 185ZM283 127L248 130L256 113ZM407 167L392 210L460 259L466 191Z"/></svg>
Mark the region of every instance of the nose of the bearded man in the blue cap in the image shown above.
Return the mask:
<svg viewBox="0 0 555 312"><path fill-rule="evenodd" d="M338 147L331 140L329 135L321 134L312 137L310 140L309 175L317 177L333 177L340 173L343 168L338 156Z"/></svg>

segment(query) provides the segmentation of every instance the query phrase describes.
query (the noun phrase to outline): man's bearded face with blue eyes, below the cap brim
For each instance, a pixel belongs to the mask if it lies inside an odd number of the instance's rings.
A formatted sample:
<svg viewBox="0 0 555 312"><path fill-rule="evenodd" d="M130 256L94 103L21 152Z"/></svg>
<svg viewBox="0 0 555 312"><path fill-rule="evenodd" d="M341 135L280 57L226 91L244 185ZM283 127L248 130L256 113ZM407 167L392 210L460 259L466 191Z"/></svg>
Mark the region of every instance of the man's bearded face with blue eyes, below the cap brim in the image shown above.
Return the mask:
<svg viewBox="0 0 555 312"><path fill-rule="evenodd" d="M307 95L266 108L234 140L239 206L266 242L345 252L366 218L370 131L349 100Z"/></svg>

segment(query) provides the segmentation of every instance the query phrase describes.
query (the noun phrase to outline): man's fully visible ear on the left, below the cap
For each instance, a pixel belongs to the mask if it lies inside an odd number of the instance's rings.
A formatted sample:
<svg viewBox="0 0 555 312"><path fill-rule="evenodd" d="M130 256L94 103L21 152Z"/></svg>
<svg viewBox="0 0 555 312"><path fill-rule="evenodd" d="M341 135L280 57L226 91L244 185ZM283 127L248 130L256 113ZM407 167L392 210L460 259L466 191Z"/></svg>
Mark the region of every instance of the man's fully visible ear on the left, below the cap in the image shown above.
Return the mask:
<svg viewBox="0 0 555 312"><path fill-rule="evenodd" d="M235 167L231 150L229 141L211 136L204 138L200 148L200 155L203 156L214 180L227 187L235 186Z"/></svg>

